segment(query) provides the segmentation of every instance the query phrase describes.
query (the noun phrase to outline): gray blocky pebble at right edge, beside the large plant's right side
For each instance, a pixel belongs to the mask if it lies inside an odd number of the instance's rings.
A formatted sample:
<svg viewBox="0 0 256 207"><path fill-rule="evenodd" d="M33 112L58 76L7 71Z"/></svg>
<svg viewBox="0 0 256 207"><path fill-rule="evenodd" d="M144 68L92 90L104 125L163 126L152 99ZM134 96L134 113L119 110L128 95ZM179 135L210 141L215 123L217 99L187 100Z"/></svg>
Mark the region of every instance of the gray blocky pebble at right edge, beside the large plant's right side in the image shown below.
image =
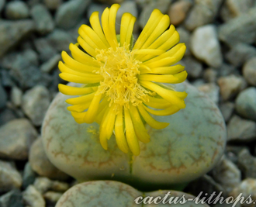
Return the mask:
<svg viewBox="0 0 256 207"><path fill-rule="evenodd" d="M227 125L227 140L251 141L256 139L256 122L232 116Z"/></svg>

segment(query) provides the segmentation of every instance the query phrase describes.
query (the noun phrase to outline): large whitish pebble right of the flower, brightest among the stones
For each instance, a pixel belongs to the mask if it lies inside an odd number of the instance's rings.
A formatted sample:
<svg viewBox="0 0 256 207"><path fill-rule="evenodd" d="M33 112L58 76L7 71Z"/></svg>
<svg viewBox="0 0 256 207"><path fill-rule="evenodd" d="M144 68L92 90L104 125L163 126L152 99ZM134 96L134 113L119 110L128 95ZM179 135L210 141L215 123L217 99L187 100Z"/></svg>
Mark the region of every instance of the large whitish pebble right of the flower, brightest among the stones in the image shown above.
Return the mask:
<svg viewBox="0 0 256 207"><path fill-rule="evenodd" d="M195 29L191 37L191 50L195 57L211 67L220 67L223 63L216 27L213 25Z"/></svg>

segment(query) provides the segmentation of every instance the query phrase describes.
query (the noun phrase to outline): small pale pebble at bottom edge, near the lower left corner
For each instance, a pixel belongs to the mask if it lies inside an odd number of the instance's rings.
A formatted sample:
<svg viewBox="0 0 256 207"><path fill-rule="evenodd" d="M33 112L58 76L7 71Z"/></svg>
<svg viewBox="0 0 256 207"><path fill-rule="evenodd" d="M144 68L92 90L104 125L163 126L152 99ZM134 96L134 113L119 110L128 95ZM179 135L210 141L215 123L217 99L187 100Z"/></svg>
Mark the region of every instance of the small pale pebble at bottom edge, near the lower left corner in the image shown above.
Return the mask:
<svg viewBox="0 0 256 207"><path fill-rule="evenodd" d="M29 185L26 191L23 192L23 200L29 207L45 207L46 203L43 196L33 185Z"/></svg>

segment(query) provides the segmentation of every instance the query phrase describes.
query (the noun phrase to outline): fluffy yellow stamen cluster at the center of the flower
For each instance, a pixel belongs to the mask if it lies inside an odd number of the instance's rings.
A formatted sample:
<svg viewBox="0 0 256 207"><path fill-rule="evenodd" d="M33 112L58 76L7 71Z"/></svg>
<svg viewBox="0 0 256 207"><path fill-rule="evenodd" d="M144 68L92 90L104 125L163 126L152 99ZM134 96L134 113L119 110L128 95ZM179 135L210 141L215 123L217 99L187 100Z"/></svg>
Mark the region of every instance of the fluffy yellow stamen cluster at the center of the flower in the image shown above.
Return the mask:
<svg viewBox="0 0 256 207"><path fill-rule="evenodd" d="M126 48L96 49L96 60L101 66L96 73L104 78L99 85L99 93L105 93L109 97L110 105L116 105L116 110L119 106L129 109L130 103L137 106L148 102L147 94L150 93L138 83L141 62L134 58L133 51Z"/></svg>

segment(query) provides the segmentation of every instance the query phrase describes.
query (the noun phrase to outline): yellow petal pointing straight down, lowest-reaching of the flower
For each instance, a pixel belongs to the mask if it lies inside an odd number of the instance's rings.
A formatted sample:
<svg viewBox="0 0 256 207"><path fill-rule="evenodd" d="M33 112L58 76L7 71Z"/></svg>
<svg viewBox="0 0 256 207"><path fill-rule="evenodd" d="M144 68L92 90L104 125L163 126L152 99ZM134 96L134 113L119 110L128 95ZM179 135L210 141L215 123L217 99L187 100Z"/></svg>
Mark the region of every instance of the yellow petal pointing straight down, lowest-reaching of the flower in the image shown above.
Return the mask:
<svg viewBox="0 0 256 207"><path fill-rule="evenodd" d="M128 146L130 147L132 153L137 156L140 154L140 145L133 128L133 122L130 118L130 112L128 110L124 110L124 118L126 124L126 140Z"/></svg>

